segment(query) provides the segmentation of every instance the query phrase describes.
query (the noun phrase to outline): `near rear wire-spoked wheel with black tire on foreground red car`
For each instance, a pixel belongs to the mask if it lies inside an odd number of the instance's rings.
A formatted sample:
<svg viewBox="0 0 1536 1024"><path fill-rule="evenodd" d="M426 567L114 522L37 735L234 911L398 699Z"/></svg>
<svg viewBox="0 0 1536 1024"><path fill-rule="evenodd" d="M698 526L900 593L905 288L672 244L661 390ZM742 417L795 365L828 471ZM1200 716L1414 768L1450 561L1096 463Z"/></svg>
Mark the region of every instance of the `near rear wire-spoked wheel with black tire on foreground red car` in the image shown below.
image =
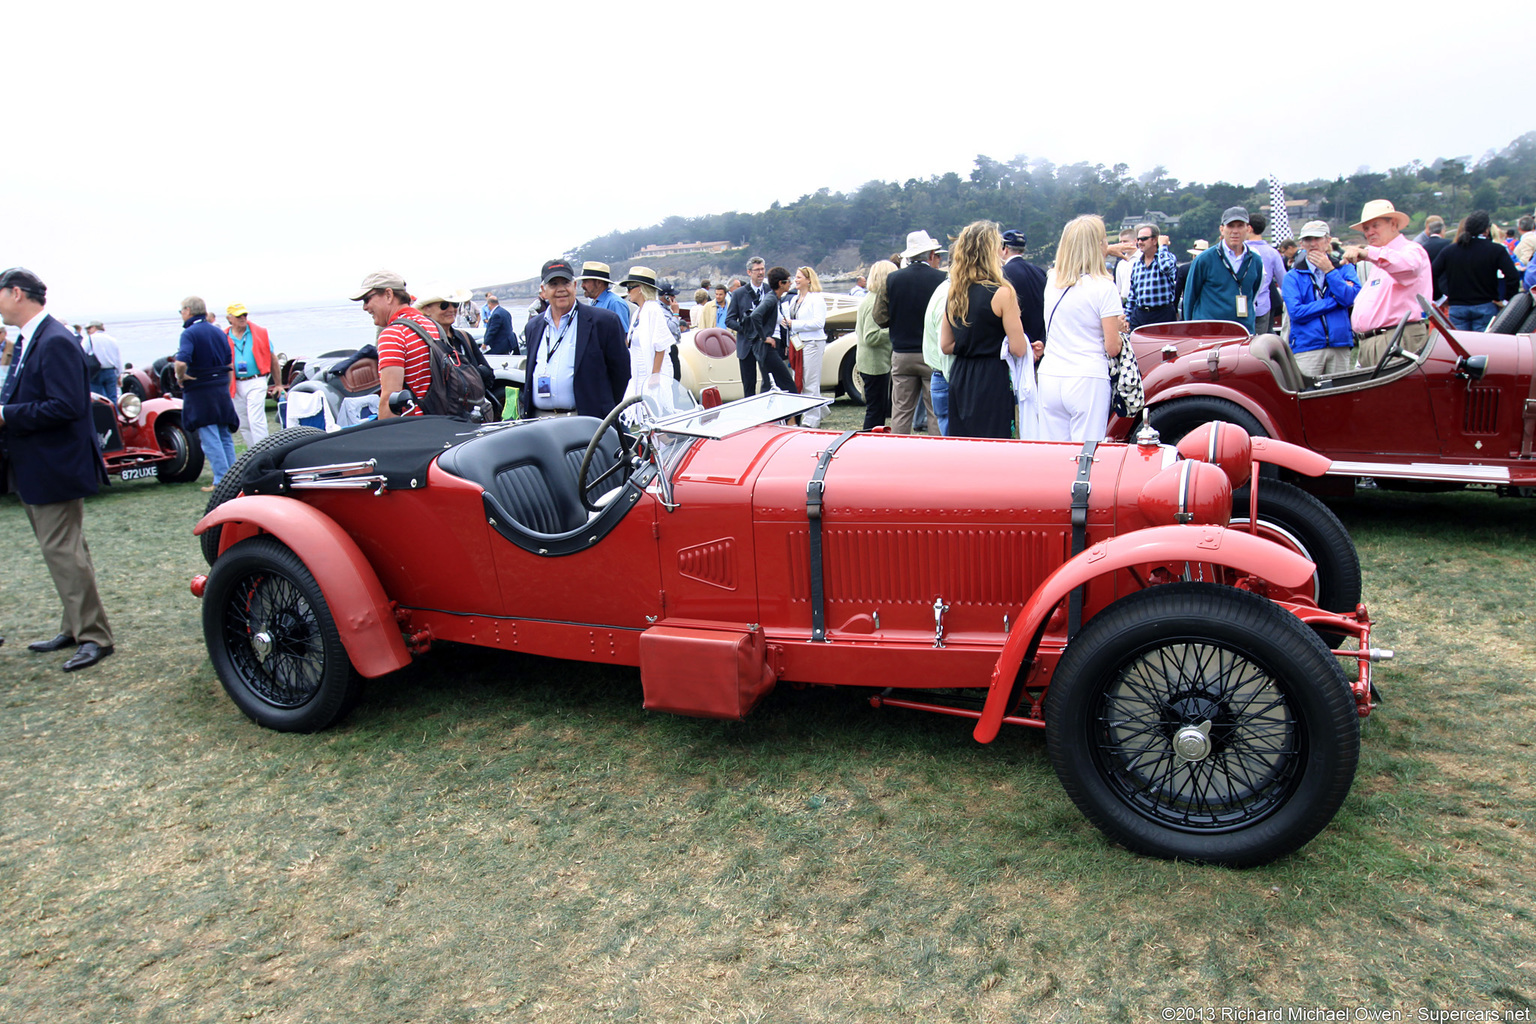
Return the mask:
<svg viewBox="0 0 1536 1024"><path fill-rule="evenodd" d="M319 583L272 537L241 540L214 563L203 639L224 692L278 732L324 729L358 691Z"/></svg>

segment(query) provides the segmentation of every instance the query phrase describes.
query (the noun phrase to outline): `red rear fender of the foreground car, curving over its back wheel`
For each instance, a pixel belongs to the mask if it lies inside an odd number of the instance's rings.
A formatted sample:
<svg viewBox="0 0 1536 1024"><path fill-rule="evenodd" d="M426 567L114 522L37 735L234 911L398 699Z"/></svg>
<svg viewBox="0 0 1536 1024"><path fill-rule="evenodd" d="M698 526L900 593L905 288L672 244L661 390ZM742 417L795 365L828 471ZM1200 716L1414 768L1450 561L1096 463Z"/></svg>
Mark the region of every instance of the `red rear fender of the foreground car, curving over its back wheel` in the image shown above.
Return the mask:
<svg viewBox="0 0 1536 1024"><path fill-rule="evenodd" d="M389 596L356 542L329 516L292 497L235 497L198 520L192 533L223 525L224 550L258 533L270 533L296 554L319 583L341 645L353 668L369 679L410 665Z"/></svg>

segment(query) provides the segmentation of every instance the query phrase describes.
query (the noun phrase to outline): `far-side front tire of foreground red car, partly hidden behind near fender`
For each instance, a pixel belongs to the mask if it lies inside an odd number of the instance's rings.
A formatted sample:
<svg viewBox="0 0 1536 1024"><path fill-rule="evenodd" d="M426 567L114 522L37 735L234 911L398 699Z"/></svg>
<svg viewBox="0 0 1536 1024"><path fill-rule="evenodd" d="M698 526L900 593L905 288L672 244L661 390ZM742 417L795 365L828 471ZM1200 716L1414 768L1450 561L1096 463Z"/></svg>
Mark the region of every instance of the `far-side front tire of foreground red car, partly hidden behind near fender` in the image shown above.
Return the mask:
<svg viewBox="0 0 1536 1024"><path fill-rule="evenodd" d="M1258 487L1258 520L1284 534L1286 547L1310 559L1318 567L1313 577L1313 600L1318 608L1352 614L1359 603L1361 573L1355 539L1327 505L1299 487L1281 481L1261 481ZM1249 487L1232 494L1232 528L1249 522ZM1338 646L1339 634L1324 634L1329 646Z"/></svg>

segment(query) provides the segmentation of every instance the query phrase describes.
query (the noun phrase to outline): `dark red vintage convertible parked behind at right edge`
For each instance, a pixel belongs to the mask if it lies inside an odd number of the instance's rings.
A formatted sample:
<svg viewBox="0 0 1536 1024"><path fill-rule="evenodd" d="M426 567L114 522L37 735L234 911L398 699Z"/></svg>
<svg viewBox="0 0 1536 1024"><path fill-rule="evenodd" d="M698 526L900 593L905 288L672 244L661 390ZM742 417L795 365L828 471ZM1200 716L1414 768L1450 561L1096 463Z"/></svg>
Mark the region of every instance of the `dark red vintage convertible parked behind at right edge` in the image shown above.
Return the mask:
<svg viewBox="0 0 1536 1024"><path fill-rule="evenodd" d="M1536 487L1536 359L1531 335L1458 332L1428 302L1428 341L1404 347L1402 325L1373 367L1309 378L1284 341L1238 324L1186 321L1130 335L1147 419L1177 441L1212 419L1306 445L1333 465L1318 493L1358 477L1384 487ZM1135 424L1111 421L1129 438ZM1306 484L1304 484L1306 485Z"/></svg>

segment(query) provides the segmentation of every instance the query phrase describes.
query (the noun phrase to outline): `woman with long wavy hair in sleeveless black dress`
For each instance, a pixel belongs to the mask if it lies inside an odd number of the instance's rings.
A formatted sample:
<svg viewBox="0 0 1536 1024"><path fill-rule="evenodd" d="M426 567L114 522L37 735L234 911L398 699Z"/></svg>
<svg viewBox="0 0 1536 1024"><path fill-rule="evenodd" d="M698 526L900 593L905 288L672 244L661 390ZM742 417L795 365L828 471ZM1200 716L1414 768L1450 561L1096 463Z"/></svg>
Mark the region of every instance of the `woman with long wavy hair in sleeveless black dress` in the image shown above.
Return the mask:
<svg viewBox="0 0 1536 1024"><path fill-rule="evenodd" d="M992 221L968 224L951 249L949 296L938 327L938 348L955 358L949 368L949 436L1012 438L1014 385L1003 347L1029 352L1018 319L1018 296L1003 278L1003 236Z"/></svg>

